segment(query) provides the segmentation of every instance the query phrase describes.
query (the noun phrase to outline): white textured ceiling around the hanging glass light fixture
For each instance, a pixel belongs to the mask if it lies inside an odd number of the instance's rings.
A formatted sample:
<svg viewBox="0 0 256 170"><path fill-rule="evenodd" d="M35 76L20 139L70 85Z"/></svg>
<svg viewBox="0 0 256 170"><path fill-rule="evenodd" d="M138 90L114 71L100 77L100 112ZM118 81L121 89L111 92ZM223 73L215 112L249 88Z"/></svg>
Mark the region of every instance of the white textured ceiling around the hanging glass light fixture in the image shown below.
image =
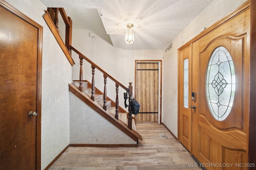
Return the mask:
<svg viewBox="0 0 256 170"><path fill-rule="evenodd" d="M47 7L64 8L74 28L90 29L122 49L166 49L212 1L41 0ZM132 45L124 42L127 23L134 24Z"/></svg>

